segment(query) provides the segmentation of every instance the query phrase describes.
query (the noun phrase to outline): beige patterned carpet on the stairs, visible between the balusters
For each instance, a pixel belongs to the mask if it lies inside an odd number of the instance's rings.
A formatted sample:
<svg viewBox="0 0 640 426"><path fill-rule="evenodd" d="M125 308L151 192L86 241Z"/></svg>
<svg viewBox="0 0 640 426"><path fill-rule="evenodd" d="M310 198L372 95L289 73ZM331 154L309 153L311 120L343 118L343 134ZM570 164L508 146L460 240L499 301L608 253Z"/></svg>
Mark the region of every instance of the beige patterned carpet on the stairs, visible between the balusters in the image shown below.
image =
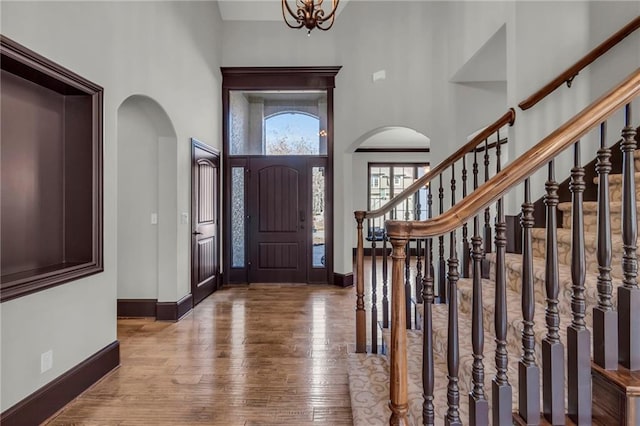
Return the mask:
<svg viewBox="0 0 640 426"><path fill-rule="evenodd" d="M636 194L640 189L640 151L635 152L636 170ZM595 182L597 183L597 182ZM621 233L621 187L622 181L619 175L609 176L611 228L612 228L612 278L614 285L622 277L622 238ZM640 211L640 200L638 200ZM558 305L560 312L560 338L565 344L567 326L571 323L571 203L561 203L558 206L560 222L563 228L558 229L558 262L560 294ZM597 203L584 203L584 227L585 227L585 256L587 263L587 275L585 282L585 298L587 303L586 322L591 328L592 309L597 302ZM640 222L640 216L638 216ZM541 365L541 341L547 333L545 326L545 229L533 229L533 277L535 293L535 356L538 366ZM640 238L638 239L640 242ZM484 391L491 404L491 380L495 375L495 254L486 255L491 264L490 277L482 280L483 292L483 326L484 339ZM640 256L639 256L640 259ZM518 361L522 351L522 255L506 255L506 281L507 281L507 351L509 354L508 376L512 386L512 408L517 411L518 391ZM412 289L414 291L415 289ZM413 293L412 293L413 294ZM472 306L472 280L460 279L458 282L458 315L459 315L459 344L460 344L460 418L464 424L468 422L469 391L472 380L473 352L471 348L471 306ZM616 292L613 293L613 302L616 303ZM380 309L380 308L379 308ZM422 318L423 305L415 306L418 316ZM448 333L448 306L433 305L433 345L435 366L435 398L436 424L444 424L447 410L447 333ZM420 320L421 321L421 320ZM409 372L409 412L411 424L422 424L422 331L408 330L408 372ZM390 333L383 331L383 341L388 347ZM566 375L565 366L565 375ZM349 359L349 381L351 391L351 406L353 410L354 425L386 425L391 415L388 407L389 401L389 362L386 355L352 354ZM566 403L565 403L566 406ZM491 417L489 417L491 419ZM491 421L491 420L490 420Z"/></svg>

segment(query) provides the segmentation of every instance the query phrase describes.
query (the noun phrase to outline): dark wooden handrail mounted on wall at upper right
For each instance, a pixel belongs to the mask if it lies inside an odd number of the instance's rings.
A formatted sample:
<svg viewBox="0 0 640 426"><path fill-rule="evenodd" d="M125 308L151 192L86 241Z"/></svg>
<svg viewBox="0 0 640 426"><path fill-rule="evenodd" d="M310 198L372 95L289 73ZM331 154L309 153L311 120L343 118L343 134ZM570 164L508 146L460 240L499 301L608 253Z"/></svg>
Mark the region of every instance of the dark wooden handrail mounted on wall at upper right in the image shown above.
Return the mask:
<svg viewBox="0 0 640 426"><path fill-rule="evenodd" d="M633 21L622 27L619 31L613 34L611 37L600 43L591 52L587 53L578 62L571 65L564 72L544 85L540 90L529 96L524 101L520 102L518 106L522 110L527 110L544 99L549 93L562 86L563 83L571 84L573 78L578 75L580 71L586 68L590 63L604 55L609 49L611 49L620 41L624 40L629 34L640 28L640 16L637 16Z"/></svg>

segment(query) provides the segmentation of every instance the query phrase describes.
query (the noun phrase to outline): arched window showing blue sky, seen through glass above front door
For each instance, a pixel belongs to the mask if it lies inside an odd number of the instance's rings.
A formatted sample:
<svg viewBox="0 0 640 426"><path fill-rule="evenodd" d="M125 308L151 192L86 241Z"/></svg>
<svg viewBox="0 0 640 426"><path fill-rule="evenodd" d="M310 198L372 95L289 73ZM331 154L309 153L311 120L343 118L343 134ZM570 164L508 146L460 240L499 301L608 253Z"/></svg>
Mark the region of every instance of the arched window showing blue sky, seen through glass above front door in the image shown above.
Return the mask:
<svg viewBox="0 0 640 426"><path fill-rule="evenodd" d="M281 112L264 121L266 155L318 155L320 119L301 112Z"/></svg>

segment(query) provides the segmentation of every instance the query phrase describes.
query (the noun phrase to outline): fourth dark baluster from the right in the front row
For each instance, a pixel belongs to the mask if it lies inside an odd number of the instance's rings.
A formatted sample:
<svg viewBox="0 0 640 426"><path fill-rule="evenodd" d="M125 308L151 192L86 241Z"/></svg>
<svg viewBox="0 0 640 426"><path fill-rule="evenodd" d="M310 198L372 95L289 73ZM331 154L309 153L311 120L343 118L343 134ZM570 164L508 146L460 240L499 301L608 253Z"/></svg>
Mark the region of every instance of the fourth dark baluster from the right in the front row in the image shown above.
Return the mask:
<svg viewBox="0 0 640 426"><path fill-rule="evenodd" d="M558 312L558 182L555 180L554 161L549 162L549 178L545 183L544 204L547 210L545 289L547 306L545 320L547 335L542 340L542 410L553 425L565 424L564 414L564 346L560 341L560 315Z"/></svg>

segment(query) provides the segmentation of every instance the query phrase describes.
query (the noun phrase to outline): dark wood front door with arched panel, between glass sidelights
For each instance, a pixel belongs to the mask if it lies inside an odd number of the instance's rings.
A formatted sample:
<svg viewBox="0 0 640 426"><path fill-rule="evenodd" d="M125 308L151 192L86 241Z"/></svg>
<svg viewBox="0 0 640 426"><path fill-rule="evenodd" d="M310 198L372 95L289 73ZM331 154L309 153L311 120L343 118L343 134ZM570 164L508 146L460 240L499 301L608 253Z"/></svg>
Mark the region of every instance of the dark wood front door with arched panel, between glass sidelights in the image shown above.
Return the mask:
<svg viewBox="0 0 640 426"><path fill-rule="evenodd" d="M249 160L249 282L307 282L306 160Z"/></svg>

